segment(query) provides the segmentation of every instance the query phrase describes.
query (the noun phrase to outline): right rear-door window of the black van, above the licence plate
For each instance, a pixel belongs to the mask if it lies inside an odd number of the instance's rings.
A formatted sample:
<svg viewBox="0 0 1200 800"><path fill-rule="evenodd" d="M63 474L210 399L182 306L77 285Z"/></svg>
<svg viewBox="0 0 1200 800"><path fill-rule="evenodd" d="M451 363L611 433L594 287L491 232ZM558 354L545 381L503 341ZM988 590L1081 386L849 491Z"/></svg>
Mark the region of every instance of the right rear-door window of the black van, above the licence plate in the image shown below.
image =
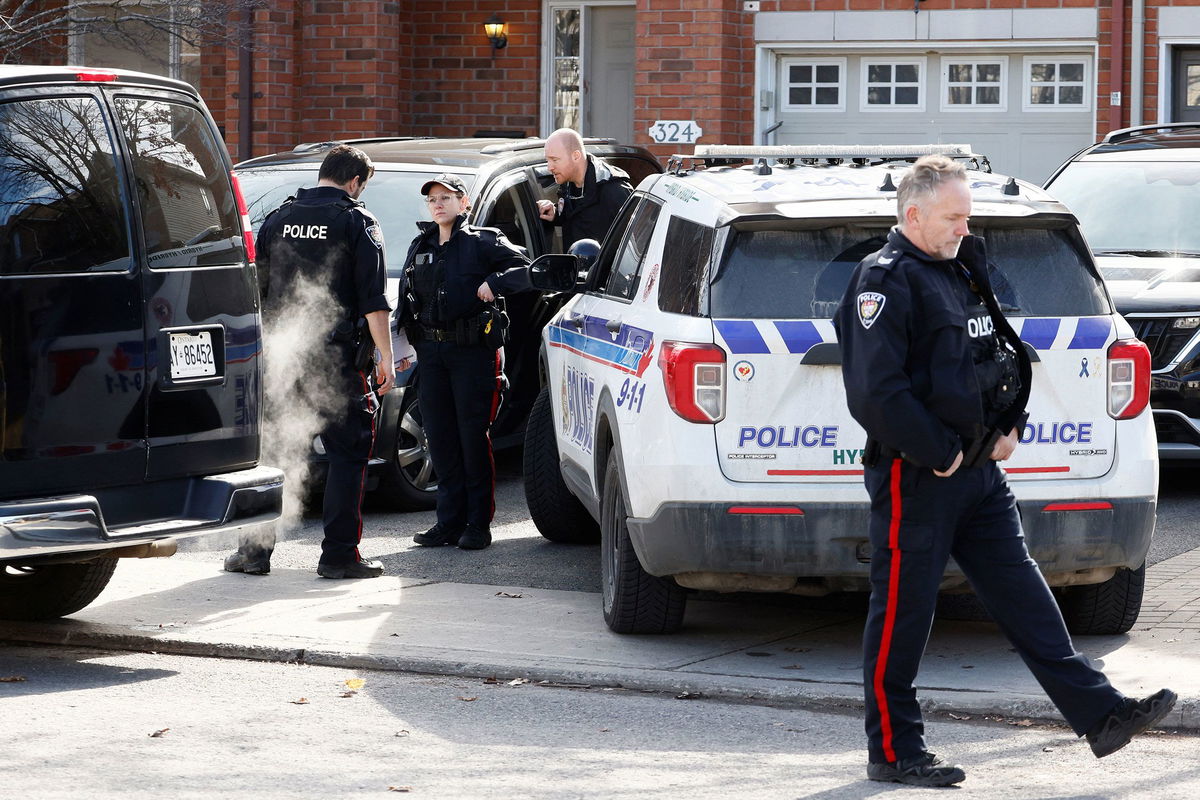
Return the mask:
<svg viewBox="0 0 1200 800"><path fill-rule="evenodd" d="M191 106L118 97L133 154L146 255L155 269L234 264L241 227L220 145Z"/></svg>

